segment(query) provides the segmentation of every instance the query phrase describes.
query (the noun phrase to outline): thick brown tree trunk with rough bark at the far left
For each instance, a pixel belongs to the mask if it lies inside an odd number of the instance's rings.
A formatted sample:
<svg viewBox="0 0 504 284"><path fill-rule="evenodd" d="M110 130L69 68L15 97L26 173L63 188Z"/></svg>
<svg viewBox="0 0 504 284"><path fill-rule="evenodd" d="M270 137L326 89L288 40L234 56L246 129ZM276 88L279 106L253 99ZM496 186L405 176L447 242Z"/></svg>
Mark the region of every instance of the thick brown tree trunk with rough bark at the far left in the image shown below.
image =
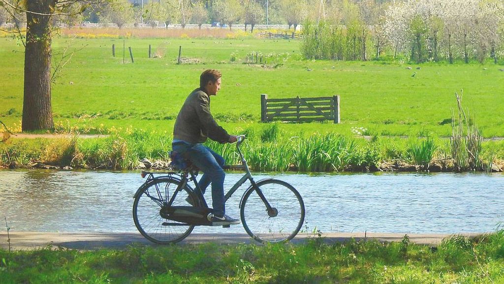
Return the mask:
<svg viewBox="0 0 504 284"><path fill-rule="evenodd" d="M27 1L27 11L50 14L54 0ZM52 129L51 16L26 13L22 130Z"/></svg>

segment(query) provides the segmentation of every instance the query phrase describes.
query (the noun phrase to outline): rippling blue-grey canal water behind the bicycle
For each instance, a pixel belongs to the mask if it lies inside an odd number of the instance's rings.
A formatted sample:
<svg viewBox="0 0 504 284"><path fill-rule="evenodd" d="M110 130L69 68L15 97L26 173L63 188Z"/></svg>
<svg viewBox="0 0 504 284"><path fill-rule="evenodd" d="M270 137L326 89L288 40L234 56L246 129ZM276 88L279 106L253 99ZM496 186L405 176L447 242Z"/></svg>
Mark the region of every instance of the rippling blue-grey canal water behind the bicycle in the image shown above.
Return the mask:
<svg viewBox="0 0 504 284"><path fill-rule="evenodd" d="M302 230L308 232L482 233L504 224L502 174L257 174L255 178L271 176L290 183L303 197ZM240 177L227 174L225 188ZM0 218L4 224L7 218L12 232L137 232L133 195L144 181L140 173L132 172L0 171ZM228 215L239 216L245 188L228 200ZM193 232L244 230L234 225L197 227Z"/></svg>

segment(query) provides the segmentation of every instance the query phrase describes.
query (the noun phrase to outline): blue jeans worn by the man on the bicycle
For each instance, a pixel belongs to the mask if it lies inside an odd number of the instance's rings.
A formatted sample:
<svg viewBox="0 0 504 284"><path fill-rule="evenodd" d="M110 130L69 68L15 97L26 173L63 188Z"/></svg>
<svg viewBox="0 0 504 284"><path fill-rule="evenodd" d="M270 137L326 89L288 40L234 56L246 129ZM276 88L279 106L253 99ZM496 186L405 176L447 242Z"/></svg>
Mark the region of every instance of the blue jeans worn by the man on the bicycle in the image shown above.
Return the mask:
<svg viewBox="0 0 504 284"><path fill-rule="evenodd" d="M224 178L226 174L222 169L225 163L224 158L201 143L188 144L178 142L172 144L172 149L191 160L203 172L198 185L202 193L205 193L210 183L212 184L213 212L217 216L224 216L226 213L224 204Z"/></svg>

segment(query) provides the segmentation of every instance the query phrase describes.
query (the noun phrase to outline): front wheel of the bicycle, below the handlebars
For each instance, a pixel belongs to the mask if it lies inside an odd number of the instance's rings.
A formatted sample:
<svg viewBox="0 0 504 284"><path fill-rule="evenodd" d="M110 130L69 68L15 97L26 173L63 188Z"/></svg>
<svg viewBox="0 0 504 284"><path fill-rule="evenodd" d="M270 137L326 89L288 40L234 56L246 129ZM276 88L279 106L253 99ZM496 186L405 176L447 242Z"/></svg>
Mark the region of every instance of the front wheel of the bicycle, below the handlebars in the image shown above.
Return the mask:
<svg viewBox="0 0 504 284"><path fill-rule="evenodd" d="M297 190L286 182L266 180L257 183L265 201L254 187L245 192L240 208L243 228L261 243L291 240L304 221L304 203Z"/></svg>

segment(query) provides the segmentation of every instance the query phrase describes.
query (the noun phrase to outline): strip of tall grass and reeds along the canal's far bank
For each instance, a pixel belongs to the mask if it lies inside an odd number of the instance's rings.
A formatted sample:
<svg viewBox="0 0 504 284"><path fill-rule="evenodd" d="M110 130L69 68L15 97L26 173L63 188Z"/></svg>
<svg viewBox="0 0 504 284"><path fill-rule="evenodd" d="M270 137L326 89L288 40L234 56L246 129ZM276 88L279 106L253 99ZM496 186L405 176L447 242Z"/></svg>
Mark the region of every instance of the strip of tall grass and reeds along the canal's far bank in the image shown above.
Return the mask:
<svg viewBox="0 0 504 284"><path fill-rule="evenodd" d="M83 139L74 134L55 139L9 138L0 143L0 164L4 167L71 166L91 169L166 168L172 137L166 131L136 128L113 129L103 138ZM288 132L281 124L251 125L233 132L247 137L242 146L248 164L257 172L342 172L342 171L460 171L452 140L417 140L374 136L362 137L335 133ZM504 142L480 145L482 171L503 165ZM237 164L235 144L208 141L228 164ZM458 146L457 146L458 147ZM149 160L141 162L141 160Z"/></svg>

